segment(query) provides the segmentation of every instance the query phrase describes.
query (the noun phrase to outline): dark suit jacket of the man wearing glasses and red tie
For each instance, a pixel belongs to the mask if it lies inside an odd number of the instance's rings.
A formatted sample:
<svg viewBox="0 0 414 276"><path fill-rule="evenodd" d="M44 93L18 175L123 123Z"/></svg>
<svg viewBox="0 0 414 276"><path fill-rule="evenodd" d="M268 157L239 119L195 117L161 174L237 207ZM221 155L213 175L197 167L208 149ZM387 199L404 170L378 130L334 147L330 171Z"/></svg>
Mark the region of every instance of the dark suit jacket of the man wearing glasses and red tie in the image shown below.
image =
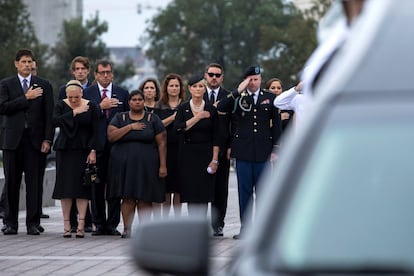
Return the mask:
<svg viewBox="0 0 414 276"><path fill-rule="evenodd" d="M112 84L112 98L118 98L122 104L119 104L117 107L113 107L109 112L109 119L106 118L104 110L99 106L101 99L101 92L99 91L98 84L89 86L83 91L83 97L90 100L92 103L96 104L99 111L99 130L98 130L98 148L96 150L103 151L105 149L105 144L107 143L107 134L106 129L109 122L112 120L114 115L118 112L124 112L129 110L128 98L129 93L127 90L119 87L115 84Z"/></svg>

